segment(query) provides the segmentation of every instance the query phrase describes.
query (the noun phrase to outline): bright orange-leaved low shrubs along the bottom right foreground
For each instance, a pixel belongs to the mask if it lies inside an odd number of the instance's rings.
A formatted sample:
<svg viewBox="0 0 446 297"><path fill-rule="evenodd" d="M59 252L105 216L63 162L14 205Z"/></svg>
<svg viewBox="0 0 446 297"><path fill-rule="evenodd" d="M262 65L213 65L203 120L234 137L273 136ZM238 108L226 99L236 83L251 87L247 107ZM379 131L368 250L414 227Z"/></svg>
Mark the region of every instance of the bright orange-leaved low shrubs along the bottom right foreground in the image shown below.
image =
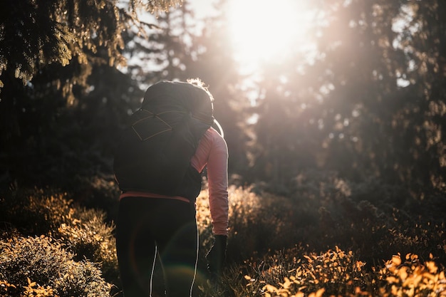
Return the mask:
<svg viewBox="0 0 446 297"><path fill-rule="evenodd" d="M445 271L415 254L394 255L373 270L352 251L338 247L321 254L300 246L276 251L224 271L217 286L200 287L200 297L444 297Z"/></svg>

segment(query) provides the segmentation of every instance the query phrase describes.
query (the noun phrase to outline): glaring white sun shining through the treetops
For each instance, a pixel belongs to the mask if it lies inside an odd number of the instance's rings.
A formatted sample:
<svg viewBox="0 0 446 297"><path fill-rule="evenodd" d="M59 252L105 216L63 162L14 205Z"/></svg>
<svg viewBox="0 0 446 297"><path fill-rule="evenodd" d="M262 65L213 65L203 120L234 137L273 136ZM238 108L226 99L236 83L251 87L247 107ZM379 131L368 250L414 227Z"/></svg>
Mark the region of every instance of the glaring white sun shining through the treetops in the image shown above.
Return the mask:
<svg viewBox="0 0 446 297"><path fill-rule="evenodd" d="M305 0L231 0L229 33L235 58L259 63L284 58L308 41Z"/></svg>

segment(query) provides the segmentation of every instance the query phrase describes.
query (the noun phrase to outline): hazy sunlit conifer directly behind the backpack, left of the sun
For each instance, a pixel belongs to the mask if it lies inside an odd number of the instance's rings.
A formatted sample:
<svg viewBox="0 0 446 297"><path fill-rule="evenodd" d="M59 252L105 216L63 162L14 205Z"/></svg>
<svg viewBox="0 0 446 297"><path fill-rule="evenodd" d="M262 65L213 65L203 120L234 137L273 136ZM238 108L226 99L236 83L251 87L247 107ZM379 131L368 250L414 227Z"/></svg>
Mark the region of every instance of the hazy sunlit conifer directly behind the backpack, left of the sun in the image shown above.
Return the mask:
<svg viewBox="0 0 446 297"><path fill-rule="evenodd" d="M244 78L234 61L227 28L227 1L215 4L218 14L205 20L202 31L192 39L191 59L185 75L202 78L214 95L214 116L222 125L229 150L229 173L247 178L247 94L240 88ZM235 182L235 181L234 181Z"/></svg>

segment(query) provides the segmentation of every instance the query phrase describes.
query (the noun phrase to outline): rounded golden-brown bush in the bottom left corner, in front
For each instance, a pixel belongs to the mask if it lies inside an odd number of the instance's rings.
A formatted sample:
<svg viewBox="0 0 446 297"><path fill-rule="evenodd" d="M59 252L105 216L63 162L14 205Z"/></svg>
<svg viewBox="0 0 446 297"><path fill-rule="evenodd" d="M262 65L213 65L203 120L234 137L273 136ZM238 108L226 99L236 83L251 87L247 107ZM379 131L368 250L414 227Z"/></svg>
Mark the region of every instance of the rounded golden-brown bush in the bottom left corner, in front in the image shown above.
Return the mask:
<svg viewBox="0 0 446 297"><path fill-rule="evenodd" d="M0 241L0 280L8 296L110 296L110 284L90 261L74 261L61 241L19 237ZM40 295L39 295L40 294Z"/></svg>

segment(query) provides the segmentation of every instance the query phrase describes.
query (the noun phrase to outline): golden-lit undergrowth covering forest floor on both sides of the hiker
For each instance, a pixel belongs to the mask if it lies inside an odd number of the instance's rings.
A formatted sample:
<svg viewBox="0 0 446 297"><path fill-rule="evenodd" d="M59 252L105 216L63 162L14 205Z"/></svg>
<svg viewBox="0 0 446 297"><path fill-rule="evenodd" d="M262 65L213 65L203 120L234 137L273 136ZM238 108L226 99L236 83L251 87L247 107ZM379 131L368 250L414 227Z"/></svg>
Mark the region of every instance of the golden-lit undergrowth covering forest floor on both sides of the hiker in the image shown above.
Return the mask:
<svg viewBox="0 0 446 297"><path fill-rule="evenodd" d="M444 196L317 172L292 193L229 189L227 265L219 281L199 273L195 296L446 296ZM199 271L213 241L207 195L197 198ZM122 296L107 207L77 198L0 193L0 296Z"/></svg>

